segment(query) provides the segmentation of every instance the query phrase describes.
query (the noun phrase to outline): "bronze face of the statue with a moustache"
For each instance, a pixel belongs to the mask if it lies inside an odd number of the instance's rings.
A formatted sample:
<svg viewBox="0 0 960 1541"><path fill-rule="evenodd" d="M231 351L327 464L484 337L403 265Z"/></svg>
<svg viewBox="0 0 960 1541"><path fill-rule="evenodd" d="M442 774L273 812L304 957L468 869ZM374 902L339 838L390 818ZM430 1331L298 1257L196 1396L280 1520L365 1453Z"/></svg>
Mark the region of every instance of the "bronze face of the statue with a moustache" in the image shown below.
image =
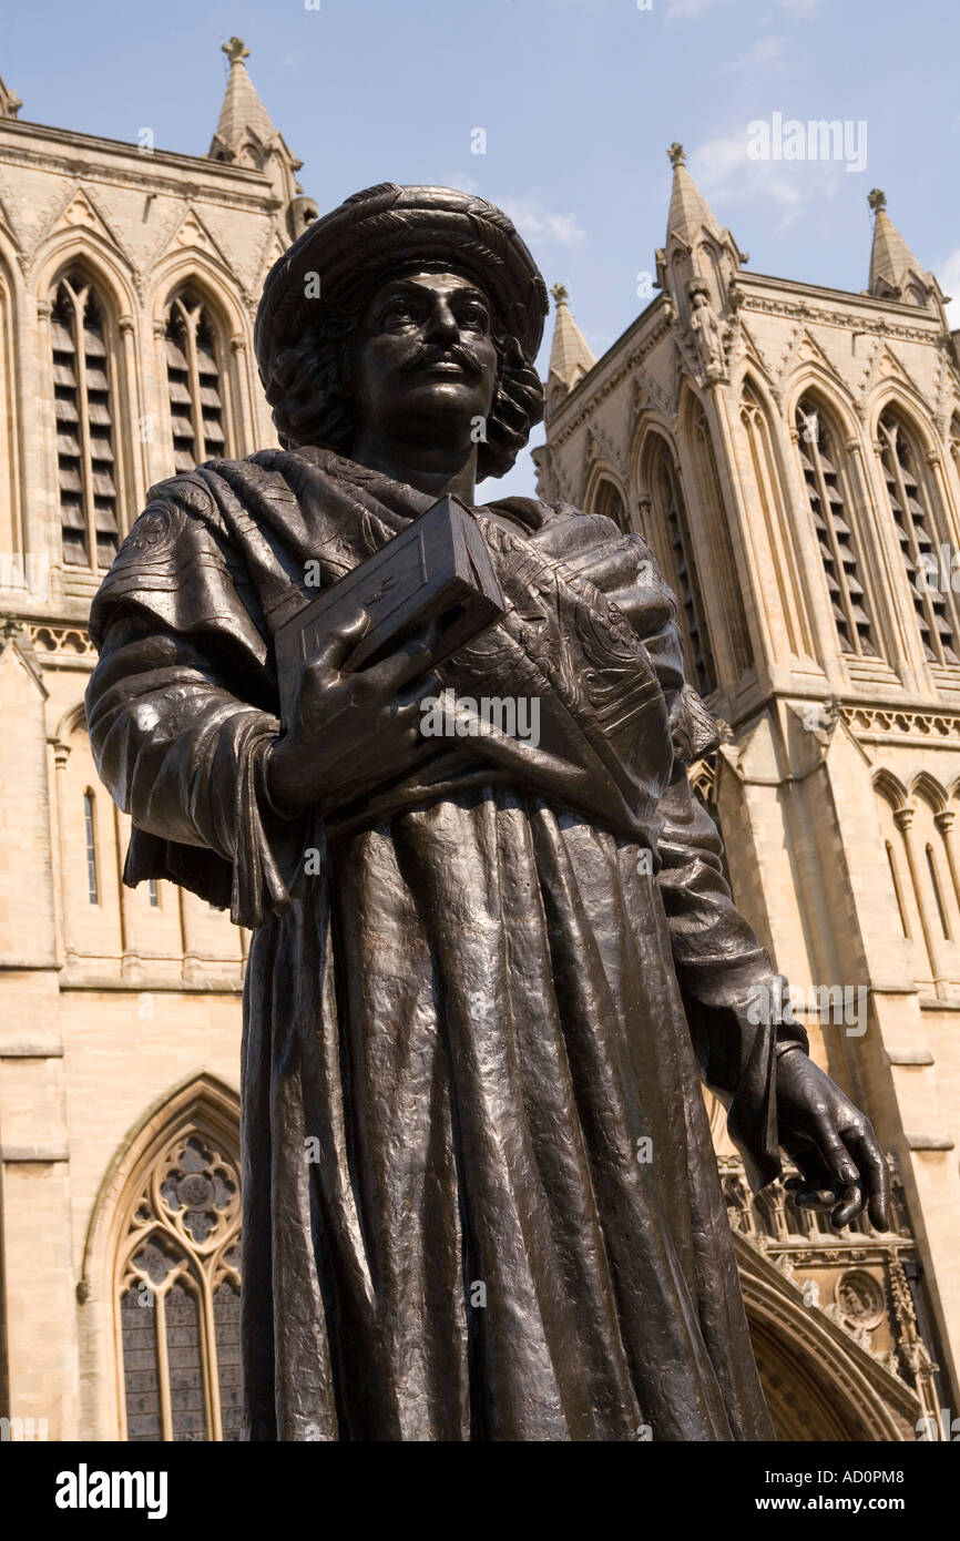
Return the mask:
<svg viewBox="0 0 960 1541"><path fill-rule="evenodd" d="M496 390L490 319L484 291L456 273L410 273L384 284L354 341L357 430L468 447Z"/></svg>

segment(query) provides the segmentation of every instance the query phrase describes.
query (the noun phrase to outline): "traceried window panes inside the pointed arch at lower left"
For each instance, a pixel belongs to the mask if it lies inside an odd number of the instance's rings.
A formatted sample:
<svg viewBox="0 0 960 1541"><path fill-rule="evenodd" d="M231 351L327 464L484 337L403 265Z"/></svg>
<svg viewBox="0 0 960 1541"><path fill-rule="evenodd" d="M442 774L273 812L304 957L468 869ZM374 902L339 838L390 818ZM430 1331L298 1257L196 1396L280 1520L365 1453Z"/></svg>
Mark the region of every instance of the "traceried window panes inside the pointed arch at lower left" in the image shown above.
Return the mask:
<svg viewBox="0 0 960 1541"><path fill-rule="evenodd" d="M145 1171L117 1256L129 1441L240 1438L236 1153L180 1128Z"/></svg>

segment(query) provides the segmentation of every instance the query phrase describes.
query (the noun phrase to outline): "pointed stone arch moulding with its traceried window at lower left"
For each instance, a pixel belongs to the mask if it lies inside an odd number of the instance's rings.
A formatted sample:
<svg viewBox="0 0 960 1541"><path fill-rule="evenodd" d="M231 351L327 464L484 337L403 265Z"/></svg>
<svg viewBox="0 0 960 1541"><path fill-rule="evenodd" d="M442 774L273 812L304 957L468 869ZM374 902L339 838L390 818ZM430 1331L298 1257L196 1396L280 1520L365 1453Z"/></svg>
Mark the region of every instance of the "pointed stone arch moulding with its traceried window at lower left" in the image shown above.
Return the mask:
<svg viewBox="0 0 960 1541"><path fill-rule="evenodd" d="M108 1305L116 1436L240 1435L239 1099L200 1073L122 1142L85 1245Z"/></svg>

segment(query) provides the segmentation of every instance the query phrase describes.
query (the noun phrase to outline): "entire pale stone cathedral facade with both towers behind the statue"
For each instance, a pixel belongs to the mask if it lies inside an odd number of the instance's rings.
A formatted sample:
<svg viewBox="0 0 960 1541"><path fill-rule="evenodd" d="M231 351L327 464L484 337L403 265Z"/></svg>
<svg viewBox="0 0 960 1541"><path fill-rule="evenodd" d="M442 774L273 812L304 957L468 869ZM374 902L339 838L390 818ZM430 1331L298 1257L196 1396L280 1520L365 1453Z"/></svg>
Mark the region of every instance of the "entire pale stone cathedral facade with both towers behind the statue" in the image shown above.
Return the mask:
<svg viewBox="0 0 960 1541"><path fill-rule="evenodd" d="M89 601L148 488L276 442L263 277L316 214L239 39L205 156L23 122L0 83L0 1419L239 1432L247 935L122 883L83 721ZM718 1157L781 1436L943 1438L960 1282L960 379L875 202L869 291L744 268L673 149L660 294L595 361L558 293L541 495L650 541L733 892L891 1153L840 1236ZM946 582L943 573L948 573ZM960 587L960 579L957 582ZM952 1416L952 1415L951 1415ZM960 1429L960 1424L958 1424Z"/></svg>

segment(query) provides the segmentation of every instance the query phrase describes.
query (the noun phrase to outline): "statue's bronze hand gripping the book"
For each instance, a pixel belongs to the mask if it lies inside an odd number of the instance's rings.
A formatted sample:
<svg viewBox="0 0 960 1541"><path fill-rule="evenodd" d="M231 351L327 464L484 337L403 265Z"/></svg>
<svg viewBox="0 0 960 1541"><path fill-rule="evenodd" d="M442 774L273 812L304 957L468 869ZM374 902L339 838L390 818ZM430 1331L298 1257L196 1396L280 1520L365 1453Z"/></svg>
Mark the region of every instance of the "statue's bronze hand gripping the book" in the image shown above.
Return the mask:
<svg viewBox="0 0 960 1541"><path fill-rule="evenodd" d="M304 664L290 724L268 761L270 795L279 804L300 809L321 803L333 809L415 764L424 744L421 701L431 693L430 681L418 676L430 664L431 632L408 638L376 664L351 670L350 656L368 626L367 612L357 610Z"/></svg>

